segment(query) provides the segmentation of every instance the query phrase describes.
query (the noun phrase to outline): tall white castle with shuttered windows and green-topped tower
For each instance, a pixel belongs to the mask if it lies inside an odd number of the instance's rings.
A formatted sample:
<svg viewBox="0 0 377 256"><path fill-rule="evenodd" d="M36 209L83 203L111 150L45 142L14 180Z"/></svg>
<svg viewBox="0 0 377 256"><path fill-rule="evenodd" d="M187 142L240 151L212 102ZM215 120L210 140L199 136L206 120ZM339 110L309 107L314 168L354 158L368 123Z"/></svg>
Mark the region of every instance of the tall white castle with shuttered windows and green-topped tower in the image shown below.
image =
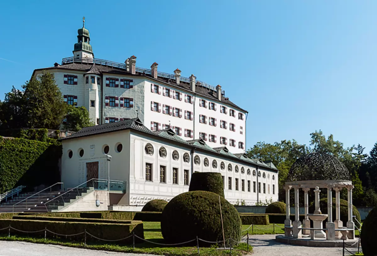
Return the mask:
<svg viewBox="0 0 377 256"><path fill-rule="evenodd" d="M85 24L85 23L84 23ZM202 139L210 148L227 147L244 153L248 112L214 87L190 77L136 67L136 57L124 63L94 58L89 30L78 29L72 57L49 68L64 101L84 106L97 125L138 118L153 132L171 129L183 140Z"/></svg>

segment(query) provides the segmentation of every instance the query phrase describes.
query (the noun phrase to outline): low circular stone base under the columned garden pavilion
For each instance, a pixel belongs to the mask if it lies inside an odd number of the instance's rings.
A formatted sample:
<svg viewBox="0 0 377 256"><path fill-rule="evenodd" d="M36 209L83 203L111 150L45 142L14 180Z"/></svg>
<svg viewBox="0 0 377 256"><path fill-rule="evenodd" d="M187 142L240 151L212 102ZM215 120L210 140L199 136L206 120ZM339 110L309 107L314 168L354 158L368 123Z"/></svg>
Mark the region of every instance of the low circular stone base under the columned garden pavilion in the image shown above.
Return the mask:
<svg viewBox="0 0 377 256"><path fill-rule="evenodd" d="M300 245L309 247L343 247L343 240L326 240L316 238L314 240L310 239L310 236L303 236L302 238L285 237L284 235L276 236L276 242L290 245ZM357 248L359 239L348 239L344 241L347 245L346 247Z"/></svg>

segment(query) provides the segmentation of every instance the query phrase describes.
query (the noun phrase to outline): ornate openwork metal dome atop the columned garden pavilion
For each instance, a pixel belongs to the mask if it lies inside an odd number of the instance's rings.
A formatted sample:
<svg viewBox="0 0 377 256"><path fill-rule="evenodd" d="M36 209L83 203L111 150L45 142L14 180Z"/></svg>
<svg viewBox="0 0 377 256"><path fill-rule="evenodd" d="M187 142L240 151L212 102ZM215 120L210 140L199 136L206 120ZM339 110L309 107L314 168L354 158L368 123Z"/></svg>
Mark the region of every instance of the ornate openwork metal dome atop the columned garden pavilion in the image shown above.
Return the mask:
<svg viewBox="0 0 377 256"><path fill-rule="evenodd" d="M288 181L297 180L349 180L347 167L334 156L310 153L293 163Z"/></svg>

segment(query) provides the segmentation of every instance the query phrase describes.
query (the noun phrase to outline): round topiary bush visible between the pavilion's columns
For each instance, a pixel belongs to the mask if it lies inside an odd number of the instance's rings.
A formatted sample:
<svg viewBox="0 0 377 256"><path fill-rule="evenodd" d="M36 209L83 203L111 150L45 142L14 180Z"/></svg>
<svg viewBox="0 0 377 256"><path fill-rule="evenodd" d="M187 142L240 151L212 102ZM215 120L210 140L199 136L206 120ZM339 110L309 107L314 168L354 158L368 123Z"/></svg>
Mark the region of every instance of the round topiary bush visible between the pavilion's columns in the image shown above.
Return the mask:
<svg viewBox="0 0 377 256"><path fill-rule="evenodd" d="M319 200L319 207L323 214L327 214L327 198L322 198ZM309 213L314 212L314 202L311 203L309 207ZM356 216L356 219L361 223L360 213L357 210L355 205L352 205L352 215ZM336 200L333 198L333 221L336 218ZM343 221L343 226L346 226L348 221L348 202L347 200L340 199L340 220ZM359 223L355 222L355 226L360 228ZM323 222L323 226L325 227L326 222Z"/></svg>

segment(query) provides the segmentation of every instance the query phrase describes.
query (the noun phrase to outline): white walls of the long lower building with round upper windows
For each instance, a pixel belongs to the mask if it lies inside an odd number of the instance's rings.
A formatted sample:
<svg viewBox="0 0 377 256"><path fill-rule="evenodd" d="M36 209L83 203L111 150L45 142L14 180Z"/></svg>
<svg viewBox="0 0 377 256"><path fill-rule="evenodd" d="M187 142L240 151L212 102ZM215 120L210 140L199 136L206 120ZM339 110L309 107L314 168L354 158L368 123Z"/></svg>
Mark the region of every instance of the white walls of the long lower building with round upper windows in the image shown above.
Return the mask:
<svg viewBox="0 0 377 256"><path fill-rule="evenodd" d="M169 201L174 196L189 190L189 180L196 171L221 173L225 181L225 198L232 204L254 205L257 200L262 202L278 200L276 169L256 165L251 160L247 162L236 156L225 156L213 150L198 148L184 141L170 140L166 137L167 131L162 133L165 133L165 136L121 130L62 140L64 187L72 188L87 180L87 162L98 162L98 178L107 179L104 148L109 146L108 154L112 156L110 179L126 182L126 198L129 205L144 205L152 199ZM203 141L201 143L204 144ZM117 150L119 144L123 146L121 152ZM153 154L147 154L147 144L152 145ZM166 149L165 157L159 154L161 147ZM194 159L199 157L200 163L194 161L192 168L191 151L194 147L196 149L193 157ZM84 150L83 157L79 155L80 150ZM73 152L71 158L70 151ZM173 151L178 152L178 160L173 159ZM184 161L184 154L189 156L189 162ZM213 161L216 161L217 165L214 165ZM146 177L147 164L151 168L150 180ZM222 168L223 165L225 168ZM231 170L228 169L229 165ZM165 178L162 180L161 166L165 170L163 175ZM173 168L177 168L176 184L173 179ZM260 177L257 176L258 171L261 173ZM185 172L188 175L186 182Z"/></svg>

